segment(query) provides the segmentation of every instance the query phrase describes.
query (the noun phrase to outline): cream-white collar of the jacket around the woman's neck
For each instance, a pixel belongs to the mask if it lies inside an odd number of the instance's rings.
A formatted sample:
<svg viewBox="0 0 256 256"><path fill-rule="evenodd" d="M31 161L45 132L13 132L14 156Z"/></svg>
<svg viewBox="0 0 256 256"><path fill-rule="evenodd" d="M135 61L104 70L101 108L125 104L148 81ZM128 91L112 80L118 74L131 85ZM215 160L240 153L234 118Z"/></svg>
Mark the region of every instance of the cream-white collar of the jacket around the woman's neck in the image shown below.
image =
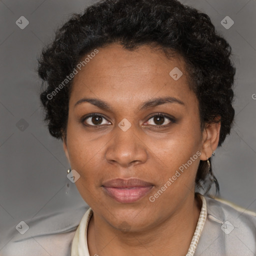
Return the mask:
<svg viewBox="0 0 256 256"><path fill-rule="evenodd" d="M196 246L197 246L197 243L206 219L206 214L207 214L206 200L203 195L199 194L199 196L202 200L202 207L200 210L200 215L195 227L195 231L194 231L191 243L186 253L186 256L194 255L194 251L196 249ZM89 208L81 218L81 221L73 237L72 247L71 247L71 256L90 256L88 251L88 245L87 245L87 228L88 228L88 223L92 213L93 213L92 209Z"/></svg>

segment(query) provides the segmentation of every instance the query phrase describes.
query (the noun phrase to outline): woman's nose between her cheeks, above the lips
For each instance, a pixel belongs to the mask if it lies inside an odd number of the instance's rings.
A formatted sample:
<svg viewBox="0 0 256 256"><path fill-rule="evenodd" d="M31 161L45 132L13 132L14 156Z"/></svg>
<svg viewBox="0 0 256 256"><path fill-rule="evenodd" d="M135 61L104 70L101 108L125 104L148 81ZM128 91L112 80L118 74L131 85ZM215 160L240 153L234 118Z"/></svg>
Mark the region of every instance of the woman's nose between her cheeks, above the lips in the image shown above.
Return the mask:
<svg viewBox="0 0 256 256"><path fill-rule="evenodd" d="M121 167L144 163L148 154L146 145L138 133L134 125L131 125L126 131L116 126L114 137L109 141L106 148L106 160Z"/></svg>

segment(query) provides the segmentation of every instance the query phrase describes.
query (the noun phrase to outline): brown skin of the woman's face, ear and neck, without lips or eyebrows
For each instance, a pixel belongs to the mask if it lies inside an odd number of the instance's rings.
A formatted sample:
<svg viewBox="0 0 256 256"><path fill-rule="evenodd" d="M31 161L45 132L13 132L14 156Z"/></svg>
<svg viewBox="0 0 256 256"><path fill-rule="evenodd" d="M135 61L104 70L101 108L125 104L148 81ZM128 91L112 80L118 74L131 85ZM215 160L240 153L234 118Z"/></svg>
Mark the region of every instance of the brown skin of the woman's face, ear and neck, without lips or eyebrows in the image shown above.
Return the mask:
<svg viewBox="0 0 256 256"><path fill-rule="evenodd" d="M200 159L206 160L216 149L220 123L207 124L201 131L198 100L189 89L181 57L167 59L148 45L129 51L112 43L98 50L73 79L63 138L70 166L80 174L75 185L93 210L87 230L89 253L185 255L201 208L194 196L197 167ZM169 75L174 67L183 72L178 80ZM184 104L168 102L139 110L144 101L166 96ZM89 102L75 106L83 97L104 100L111 109ZM173 116L175 122L165 117L157 123L151 117L158 112ZM80 119L90 113L104 117L98 122L88 118L85 126ZM126 131L118 126L123 118L131 124ZM165 127L156 127L161 125ZM197 151L201 155L150 202L149 196ZM106 180L130 177L154 186L133 203L117 202L102 188Z"/></svg>

